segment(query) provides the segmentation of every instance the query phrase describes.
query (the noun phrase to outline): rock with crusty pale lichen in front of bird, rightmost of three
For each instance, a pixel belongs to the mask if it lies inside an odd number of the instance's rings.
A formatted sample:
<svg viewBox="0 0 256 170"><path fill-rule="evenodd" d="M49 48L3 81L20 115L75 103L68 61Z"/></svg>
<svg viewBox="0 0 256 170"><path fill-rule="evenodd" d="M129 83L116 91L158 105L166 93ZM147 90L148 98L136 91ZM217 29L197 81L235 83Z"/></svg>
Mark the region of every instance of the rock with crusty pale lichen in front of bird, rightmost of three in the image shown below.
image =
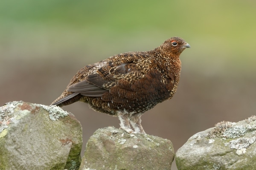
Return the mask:
<svg viewBox="0 0 256 170"><path fill-rule="evenodd" d="M256 170L256 116L196 133L175 160L178 170Z"/></svg>

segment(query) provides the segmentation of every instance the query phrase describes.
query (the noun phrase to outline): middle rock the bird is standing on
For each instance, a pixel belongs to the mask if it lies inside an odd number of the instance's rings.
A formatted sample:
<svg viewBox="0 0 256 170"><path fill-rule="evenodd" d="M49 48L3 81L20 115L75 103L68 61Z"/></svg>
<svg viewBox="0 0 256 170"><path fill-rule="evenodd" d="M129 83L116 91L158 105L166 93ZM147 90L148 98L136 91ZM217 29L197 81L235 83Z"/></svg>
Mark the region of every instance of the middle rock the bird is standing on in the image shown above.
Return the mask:
<svg viewBox="0 0 256 170"><path fill-rule="evenodd" d="M79 170L170 170L173 159L167 139L105 127L88 140Z"/></svg>

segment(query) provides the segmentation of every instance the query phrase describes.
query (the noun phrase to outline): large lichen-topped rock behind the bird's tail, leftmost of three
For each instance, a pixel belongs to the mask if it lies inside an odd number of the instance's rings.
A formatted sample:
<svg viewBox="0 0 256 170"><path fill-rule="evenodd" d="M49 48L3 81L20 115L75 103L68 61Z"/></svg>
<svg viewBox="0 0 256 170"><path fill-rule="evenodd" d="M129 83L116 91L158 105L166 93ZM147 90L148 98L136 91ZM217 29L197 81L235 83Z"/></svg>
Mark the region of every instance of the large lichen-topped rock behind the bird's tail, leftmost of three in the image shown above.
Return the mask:
<svg viewBox="0 0 256 170"><path fill-rule="evenodd" d="M9 102L0 107L1 170L77 170L80 122L56 106Z"/></svg>

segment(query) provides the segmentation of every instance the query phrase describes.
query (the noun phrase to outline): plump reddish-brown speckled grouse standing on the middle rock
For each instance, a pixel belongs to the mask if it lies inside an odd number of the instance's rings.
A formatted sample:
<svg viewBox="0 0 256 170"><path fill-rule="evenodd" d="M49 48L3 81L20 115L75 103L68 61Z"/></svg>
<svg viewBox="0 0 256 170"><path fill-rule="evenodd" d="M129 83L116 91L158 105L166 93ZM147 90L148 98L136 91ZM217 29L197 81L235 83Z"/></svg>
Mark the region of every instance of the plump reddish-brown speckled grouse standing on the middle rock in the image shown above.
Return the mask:
<svg viewBox="0 0 256 170"><path fill-rule="evenodd" d="M95 111L117 116L127 133L145 133L141 116L175 94L180 54L186 48L190 45L185 40L172 37L151 51L116 54L86 65L51 105L85 102Z"/></svg>

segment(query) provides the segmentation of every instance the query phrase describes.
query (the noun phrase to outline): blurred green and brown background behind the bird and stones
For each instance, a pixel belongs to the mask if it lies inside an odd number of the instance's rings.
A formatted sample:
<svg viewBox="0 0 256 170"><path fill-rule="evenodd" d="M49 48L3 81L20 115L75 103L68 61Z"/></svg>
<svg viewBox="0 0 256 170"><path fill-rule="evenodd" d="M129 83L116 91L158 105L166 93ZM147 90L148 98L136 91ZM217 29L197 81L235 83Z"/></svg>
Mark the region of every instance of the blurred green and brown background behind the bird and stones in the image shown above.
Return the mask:
<svg viewBox="0 0 256 170"><path fill-rule="evenodd" d="M191 48L177 93L142 116L146 133L176 151L217 122L256 114L255 9L254 0L1 0L0 105L49 105L85 65L182 37ZM96 129L119 127L84 103L63 109L81 122L84 145Z"/></svg>

